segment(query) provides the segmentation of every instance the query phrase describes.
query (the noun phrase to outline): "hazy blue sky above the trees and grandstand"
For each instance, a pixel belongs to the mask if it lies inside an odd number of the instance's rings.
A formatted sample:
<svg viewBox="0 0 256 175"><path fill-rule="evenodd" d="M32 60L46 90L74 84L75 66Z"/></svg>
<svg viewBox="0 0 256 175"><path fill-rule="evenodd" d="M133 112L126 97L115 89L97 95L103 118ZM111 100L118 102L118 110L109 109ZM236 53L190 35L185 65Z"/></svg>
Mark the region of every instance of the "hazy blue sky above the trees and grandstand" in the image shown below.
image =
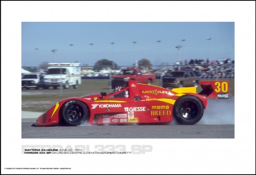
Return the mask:
<svg viewBox="0 0 256 175"><path fill-rule="evenodd" d="M234 22L22 22L22 66L108 59L119 66L234 60ZM211 40L207 40L210 37ZM135 43L136 42L136 43ZM93 44L93 45L92 45ZM52 52L56 49L56 52Z"/></svg>

